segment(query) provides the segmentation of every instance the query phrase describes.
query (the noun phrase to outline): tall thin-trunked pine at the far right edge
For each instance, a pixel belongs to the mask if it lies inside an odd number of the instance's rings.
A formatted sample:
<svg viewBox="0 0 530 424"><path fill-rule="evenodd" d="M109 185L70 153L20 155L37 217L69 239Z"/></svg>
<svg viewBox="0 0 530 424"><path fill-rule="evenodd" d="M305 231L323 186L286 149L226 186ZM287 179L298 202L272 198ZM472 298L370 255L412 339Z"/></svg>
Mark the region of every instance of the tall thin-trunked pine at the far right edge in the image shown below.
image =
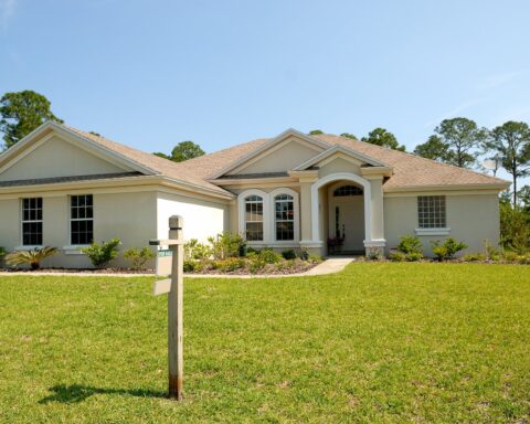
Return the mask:
<svg viewBox="0 0 530 424"><path fill-rule="evenodd" d="M509 120L491 131L486 148L502 158L502 168L512 177L513 206L517 205L517 180L530 174L530 127L526 123Z"/></svg>

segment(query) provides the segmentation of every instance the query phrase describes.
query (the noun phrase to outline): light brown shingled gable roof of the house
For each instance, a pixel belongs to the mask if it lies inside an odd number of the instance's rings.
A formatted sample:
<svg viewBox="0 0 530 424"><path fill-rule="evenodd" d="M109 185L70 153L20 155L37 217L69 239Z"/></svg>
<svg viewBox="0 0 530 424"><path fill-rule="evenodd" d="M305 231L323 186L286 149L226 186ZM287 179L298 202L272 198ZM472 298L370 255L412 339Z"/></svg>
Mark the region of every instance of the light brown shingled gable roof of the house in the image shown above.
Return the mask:
<svg viewBox="0 0 530 424"><path fill-rule="evenodd" d="M173 162L158 156L120 145L105 137L91 132L82 131L66 125L46 123L39 127L24 140L44 127L63 129L70 134L76 135L87 142L95 144L105 150L128 160L136 165L136 169L144 170L145 174L156 174L167 178L177 184L181 184L188 189L198 189L200 191L221 195L224 198L233 198L227 190L216 186L212 176L222 174L225 169L233 167L234 163L241 163L251 157L264 151L268 146L277 142L278 139L285 139L286 135L296 135L296 130L284 131L275 138L259 138L245 144L236 145L223 150L204 155L195 159L184 162ZM491 188L506 188L509 182L500 178L489 177L480 172L471 171L454 167L446 163L439 163L431 159L425 159L412 153L391 150L384 147L371 145L364 141L353 140L335 135L317 135L306 136L317 146L327 147L330 152L344 150L347 152L357 153L361 158L370 159L374 165L380 163L393 169L392 177L384 183L384 191L402 191L402 190L428 190L443 189L444 187L457 186L484 186ZM22 140L22 141L24 141ZM22 144L20 141L18 145ZM0 155L0 162L8 155L14 153L14 150L21 146L15 145L13 148ZM257 153L256 153L257 152ZM325 153L326 155L326 153Z"/></svg>

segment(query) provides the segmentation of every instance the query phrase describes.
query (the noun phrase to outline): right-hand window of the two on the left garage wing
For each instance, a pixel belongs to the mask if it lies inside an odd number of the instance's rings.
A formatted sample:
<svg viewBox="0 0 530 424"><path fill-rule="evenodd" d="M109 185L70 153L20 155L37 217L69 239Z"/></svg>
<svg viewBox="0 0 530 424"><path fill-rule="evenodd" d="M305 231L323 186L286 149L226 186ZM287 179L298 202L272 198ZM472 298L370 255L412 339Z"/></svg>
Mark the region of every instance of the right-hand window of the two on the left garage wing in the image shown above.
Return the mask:
<svg viewBox="0 0 530 424"><path fill-rule="evenodd" d="M71 197L71 243L91 244L94 240L94 203L92 194Z"/></svg>

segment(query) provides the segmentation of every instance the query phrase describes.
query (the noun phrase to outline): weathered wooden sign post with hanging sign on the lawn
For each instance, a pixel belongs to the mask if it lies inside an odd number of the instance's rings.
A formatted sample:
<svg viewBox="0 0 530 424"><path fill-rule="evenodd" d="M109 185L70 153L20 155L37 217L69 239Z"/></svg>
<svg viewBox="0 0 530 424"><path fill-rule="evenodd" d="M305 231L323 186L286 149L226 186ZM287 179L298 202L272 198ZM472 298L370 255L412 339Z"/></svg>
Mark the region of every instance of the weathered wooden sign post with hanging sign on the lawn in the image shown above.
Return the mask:
<svg viewBox="0 0 530 424"><path fill-rule="evenodd" d="M172 251L171 278L156 282L153 295L168 294L168 379L169 398L182 400L184 374L183 357L183 265L184 242L182 216L169 219L169 240L151 240L150 245L168 246Z"/></svg>

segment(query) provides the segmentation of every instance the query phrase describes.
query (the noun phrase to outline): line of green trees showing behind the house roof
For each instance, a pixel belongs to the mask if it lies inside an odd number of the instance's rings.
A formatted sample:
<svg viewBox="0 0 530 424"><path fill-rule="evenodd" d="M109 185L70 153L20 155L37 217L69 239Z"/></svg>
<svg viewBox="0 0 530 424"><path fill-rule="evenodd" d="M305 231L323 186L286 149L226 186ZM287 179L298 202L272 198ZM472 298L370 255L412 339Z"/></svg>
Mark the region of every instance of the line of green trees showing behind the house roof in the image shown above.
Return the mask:
<svg viewBox="0 0 530 424"><path fill-rule="evenodd" d="M6 149L46 120L63 123L52 113L51 102L42 94L23 91L6 93L0 98L0 131L3 132ZM319 135L324 131L315 129L309 134ZM342 132L341 136L358 139L351 132ZM405 151L405 146L400 145L392 132L381 127L373 129L360 140ZM510 120L487 129L464 117L444 119L424 144L415 147L413 153L455 167L475 169L480 169L481 159L495 157L512 177L512 204L529 201L530 187L519 189L518 186L521 178L530 174L530 127L526 123ZM204 150L193 141L187 140L179 142L169 155L163 152L153 155L180 162L200 157L204 155Z"/></svg>

